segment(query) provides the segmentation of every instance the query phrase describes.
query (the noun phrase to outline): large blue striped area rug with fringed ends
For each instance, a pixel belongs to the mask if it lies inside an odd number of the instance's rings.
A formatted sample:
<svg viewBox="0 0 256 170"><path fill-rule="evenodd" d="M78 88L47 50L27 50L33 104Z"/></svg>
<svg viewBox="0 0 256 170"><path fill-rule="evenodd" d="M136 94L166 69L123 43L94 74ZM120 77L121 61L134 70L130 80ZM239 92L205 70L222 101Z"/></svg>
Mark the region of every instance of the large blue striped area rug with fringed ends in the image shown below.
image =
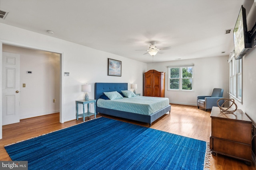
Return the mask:
<svg viewBox="0 0 256 170"><path fill-rule="evenodd" d="M206 142L100 117L5 149L31 170L203 170Z"/></svg>

